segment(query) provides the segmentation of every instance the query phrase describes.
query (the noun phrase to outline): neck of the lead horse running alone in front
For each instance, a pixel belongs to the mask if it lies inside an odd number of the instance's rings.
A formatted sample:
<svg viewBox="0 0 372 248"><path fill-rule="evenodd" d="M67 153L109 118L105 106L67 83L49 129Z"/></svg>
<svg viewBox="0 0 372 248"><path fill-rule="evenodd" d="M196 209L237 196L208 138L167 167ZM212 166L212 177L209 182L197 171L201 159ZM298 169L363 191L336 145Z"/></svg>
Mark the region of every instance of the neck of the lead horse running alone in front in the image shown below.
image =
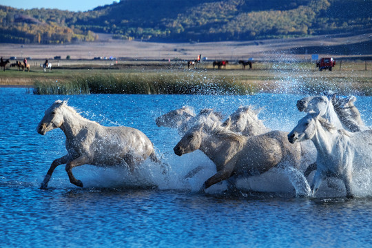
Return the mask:
<svg viewBox="0 0 372 248"><path fill-rule="evenodd" d="M65 133L67 139L74 138L81 132L86 123L90 122L83 118L80 114L76 114L71 110L65 109L63 114L63 123L61 130Z"/></svg>

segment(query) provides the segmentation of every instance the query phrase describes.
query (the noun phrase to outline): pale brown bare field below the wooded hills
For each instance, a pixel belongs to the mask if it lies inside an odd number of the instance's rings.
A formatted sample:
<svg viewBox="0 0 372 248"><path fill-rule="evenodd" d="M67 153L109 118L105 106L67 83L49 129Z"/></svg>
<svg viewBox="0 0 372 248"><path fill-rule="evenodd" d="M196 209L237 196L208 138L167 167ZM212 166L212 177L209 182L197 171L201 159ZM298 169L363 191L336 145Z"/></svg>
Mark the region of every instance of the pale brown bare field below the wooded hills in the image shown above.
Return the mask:
<svg viewBox="0 0 372 248"><path fill-rule="evenodd" d="M17 59L54 58L93 59L94 57L113 56L117 59L168 60L196 59L198 54L208 60L239 60L254 58L255 60L291 60L311 59L311 54L319 56L342 56L356 58L372 57L372 33L350 36L318 36L297 39L272 39L261 41L231 41L214 43L153 43L141 41L118 41L110 35L100 34L99 41L93 43L77 43L69 45L20 45L1 44L0 56ZM362 45L360 45L362 44ZM337 50L337 54L324 52Z"/></svg>

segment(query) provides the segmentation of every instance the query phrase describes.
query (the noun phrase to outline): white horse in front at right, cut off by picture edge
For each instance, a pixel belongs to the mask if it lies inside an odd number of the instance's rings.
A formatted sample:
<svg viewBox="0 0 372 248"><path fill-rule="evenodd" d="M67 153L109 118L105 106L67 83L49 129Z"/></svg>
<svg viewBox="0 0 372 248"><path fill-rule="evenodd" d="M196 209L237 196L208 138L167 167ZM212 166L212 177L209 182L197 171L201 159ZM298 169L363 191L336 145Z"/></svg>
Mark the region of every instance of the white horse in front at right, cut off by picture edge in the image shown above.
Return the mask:
<svg viewBox="0 0 372 248"><path fill-rule="evenodd" d="M372 130L355 133L337 130L319 112L309 113L298 121L288 139L291 143L310 139L316 145L317 170L311 183L312 194L316 193L324 178L335 176L343 180L347 197L352 198L353 167L372 165Z"/></svg>

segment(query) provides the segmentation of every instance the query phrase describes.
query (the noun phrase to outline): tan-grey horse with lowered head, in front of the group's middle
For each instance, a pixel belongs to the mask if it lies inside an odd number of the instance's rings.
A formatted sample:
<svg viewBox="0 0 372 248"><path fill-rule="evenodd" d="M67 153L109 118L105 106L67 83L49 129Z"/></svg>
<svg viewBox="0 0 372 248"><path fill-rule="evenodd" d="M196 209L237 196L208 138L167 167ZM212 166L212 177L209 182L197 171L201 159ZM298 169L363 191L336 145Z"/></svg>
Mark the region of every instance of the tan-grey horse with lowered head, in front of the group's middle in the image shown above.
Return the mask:
<svg viewBox="0 0 372 248"><path fill-rule="evenodd" d="M210 119L200 120L188 130L174 147L178 156L200 149L216 165L217 173L203 184L202 189L231 176L252 176L280 167L290 177L296 194L308 196L310 187L299 172L300 147L291 145L287 133L273 131L257 136L242 136Z"/></svg>

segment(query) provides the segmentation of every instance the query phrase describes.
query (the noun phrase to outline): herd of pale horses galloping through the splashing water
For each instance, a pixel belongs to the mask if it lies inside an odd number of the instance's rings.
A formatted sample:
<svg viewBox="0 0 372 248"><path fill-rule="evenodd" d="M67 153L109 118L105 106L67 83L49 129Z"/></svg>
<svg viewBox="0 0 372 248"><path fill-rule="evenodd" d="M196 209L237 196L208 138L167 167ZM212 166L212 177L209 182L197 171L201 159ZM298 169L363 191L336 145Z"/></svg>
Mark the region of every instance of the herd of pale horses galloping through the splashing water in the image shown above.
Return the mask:
<svg viewBox="0 0 372 248"><path fill-rule="evenodd" d="M236 178L276 168L288 176L296 196L311 197L324 179L336 177L352 198L353 174L372 166L372 130L364 125L354 101L355 96L335 94L300 99L298 110L307 115L289 133L270 130L258 118L260 110L252 106L238 107L225 120L212 109L195 114L192 108L181 107L158 116L155 122L158 127L178 130L182 138L174 146L176 155L199 149L214 162L216 174L205 181L201 191L223 180L234 189ZM84 164L124 165L133 172L149 158L167 174L167 164L156 157L154 145L140 130L102 126L78 114L67 101L55 101L45 111L37 132L44 135L57 127L65 133L68 154L53 161L42 189L48 187L54 169L61 164L66 164L70 182L80 187L83 183L74 178L72 168ZM203 167L196 167L187 177L200 169ZM307 176L313 171L309 184Z"/></svg>

